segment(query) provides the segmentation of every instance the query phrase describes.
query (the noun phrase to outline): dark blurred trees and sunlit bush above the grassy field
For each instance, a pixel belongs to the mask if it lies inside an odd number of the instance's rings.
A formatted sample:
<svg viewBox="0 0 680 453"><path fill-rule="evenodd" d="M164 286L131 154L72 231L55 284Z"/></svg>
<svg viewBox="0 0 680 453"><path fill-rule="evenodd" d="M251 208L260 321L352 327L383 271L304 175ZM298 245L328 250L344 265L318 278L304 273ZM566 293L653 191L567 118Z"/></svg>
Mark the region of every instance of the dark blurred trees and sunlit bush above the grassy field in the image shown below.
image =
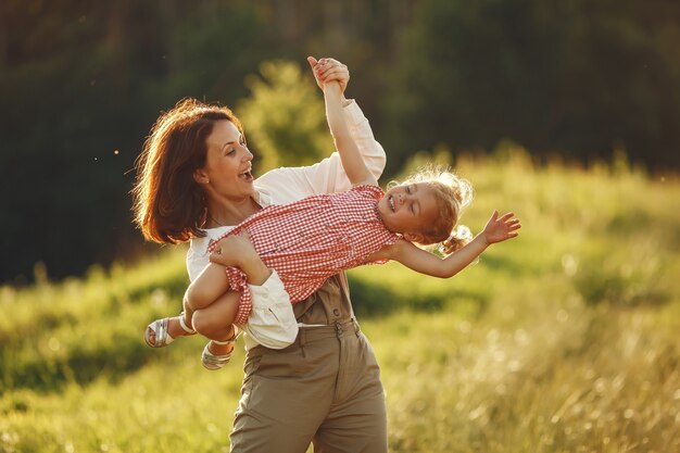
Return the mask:
<svg viewBox="0 0 680 453"><path fill-rule="evenodd" d="M508 141L534 162L680 166L677 1L3 0L0 282L151 250L134 162L184 97L242 116L259 174L327 155L306 55L350 67L386 177Z"/></svg>

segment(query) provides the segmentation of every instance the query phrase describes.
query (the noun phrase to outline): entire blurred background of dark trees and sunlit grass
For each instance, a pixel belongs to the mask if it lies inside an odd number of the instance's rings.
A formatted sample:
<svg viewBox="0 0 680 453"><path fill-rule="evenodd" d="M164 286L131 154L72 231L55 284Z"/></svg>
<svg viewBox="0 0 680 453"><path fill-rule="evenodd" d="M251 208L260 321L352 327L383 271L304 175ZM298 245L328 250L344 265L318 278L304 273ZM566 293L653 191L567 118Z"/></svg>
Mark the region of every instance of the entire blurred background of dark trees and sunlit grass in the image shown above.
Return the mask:
<svg viewBox="0 0 680 453"><path fill-rule="evenodd" d="M229 451L241 344L142 341L188 277L134 166L185 97L256 174L328 155L307 55L348 64L382 184L452 165L473 231L522 222L451 279L348 273L390 451L680 452L678 0L0 0L0 453Z"/></svg>

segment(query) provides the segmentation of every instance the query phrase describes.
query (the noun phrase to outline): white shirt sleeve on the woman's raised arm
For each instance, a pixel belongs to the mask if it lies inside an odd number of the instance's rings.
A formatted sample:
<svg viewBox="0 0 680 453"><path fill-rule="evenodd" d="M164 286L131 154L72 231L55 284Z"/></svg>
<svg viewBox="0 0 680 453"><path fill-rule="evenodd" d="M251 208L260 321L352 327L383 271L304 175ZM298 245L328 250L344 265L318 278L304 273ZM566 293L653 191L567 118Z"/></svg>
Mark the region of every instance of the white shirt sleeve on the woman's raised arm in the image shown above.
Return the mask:
<svg viewBox="0 0 680 453"><path fill-rule="evenodd" d="M387 161L382 146L374 138L370 124L356 102L350 101L343 112L350 135L368 171L379 179ZM267 193L275 204L284 204L313 194L349 190L352 186L342 168L340 155L333 152L329 158L311 166L281 167L267 172L255 181L255 187Z"/></svg>

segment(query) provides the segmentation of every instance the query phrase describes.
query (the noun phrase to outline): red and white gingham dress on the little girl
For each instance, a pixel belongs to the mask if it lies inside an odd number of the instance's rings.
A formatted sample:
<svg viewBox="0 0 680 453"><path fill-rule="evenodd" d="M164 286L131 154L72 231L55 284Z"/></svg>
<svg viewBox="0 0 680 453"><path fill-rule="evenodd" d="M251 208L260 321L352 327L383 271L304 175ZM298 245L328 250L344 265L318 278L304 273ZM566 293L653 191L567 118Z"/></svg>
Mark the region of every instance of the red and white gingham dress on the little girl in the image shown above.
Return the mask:
<svg viewBox="0 0 680 453"><path fill-rule="evenodd" d="M368 264L369 254L401 237L388 230L378 216L378 200L383 196L378 186L357 186L347 192L272 205L219 239L245 229L262 261L278 273L291 302L300 302L328 277ZM235 323L245 324L252 309L247 276L237 267L227 267L227 277L230 289L241 293Z"/></svg>

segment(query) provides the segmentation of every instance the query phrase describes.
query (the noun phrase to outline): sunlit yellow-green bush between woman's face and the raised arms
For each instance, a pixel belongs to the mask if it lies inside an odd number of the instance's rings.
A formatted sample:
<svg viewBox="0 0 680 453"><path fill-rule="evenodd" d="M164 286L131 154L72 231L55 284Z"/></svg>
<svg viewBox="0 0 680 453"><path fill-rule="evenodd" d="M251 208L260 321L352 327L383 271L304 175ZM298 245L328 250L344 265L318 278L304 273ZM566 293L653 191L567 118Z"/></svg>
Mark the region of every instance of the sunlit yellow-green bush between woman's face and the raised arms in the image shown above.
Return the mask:
<svg viewBox="0 0 680 453"><path fill-rule="evenodd" d="M267 61L249 76L251 91L237 109L261 172L312 165L333 150L323 97L314 78L293 62Z"/></svg>

